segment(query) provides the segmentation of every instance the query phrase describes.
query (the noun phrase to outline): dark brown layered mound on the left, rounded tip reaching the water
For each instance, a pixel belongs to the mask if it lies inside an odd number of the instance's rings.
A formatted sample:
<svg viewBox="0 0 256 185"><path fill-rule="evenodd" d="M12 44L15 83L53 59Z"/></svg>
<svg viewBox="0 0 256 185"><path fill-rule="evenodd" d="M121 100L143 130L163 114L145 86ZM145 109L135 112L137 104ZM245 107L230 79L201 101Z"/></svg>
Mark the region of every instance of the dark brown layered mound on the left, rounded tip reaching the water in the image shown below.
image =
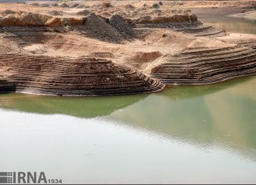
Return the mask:
<svg viewBox="0 0 256 185"><path fill-rule="evenodd" d="M0 54L0 93L127 95L155 92L164 86L110 60Z"/></svg>

